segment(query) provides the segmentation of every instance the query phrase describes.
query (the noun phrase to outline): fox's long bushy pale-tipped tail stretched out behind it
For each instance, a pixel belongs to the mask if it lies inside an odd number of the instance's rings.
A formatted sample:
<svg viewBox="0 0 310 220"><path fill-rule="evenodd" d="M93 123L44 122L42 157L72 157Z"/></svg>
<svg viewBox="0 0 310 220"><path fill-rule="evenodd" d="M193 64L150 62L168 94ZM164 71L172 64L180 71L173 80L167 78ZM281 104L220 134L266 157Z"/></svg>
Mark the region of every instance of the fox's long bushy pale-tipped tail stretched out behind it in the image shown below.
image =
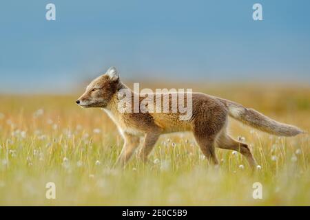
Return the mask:
<svg viewBox="0 0 310 220"><path fill-rule="evenodd" d="M297 126L277 122L276 120L268 118L262 113L255 111L254 109L247 109L241 104L231 102L229 100L221 98L218 99L226 105L229 110L229 116L245 124L253 126L260 131L265 131L278 136L295 136L300 133L305 133Z"/></svg>

